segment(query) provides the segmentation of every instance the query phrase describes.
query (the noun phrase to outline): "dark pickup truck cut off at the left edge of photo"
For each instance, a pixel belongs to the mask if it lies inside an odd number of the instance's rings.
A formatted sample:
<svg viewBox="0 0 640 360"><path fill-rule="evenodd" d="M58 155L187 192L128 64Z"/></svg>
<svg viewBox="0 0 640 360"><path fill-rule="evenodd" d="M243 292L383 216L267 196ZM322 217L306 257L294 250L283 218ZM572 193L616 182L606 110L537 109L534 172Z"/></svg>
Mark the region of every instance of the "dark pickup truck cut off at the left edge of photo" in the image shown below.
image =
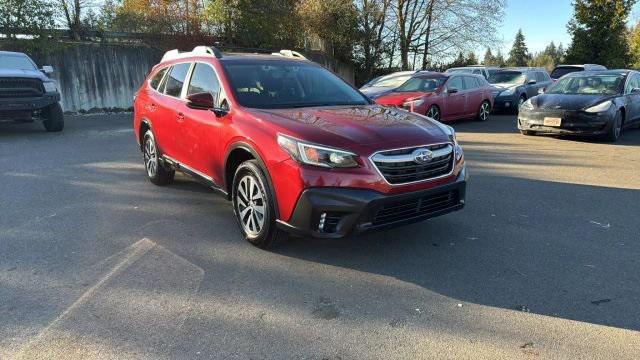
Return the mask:
<svg viewBox="0 0 640 360"><path fill-rule="evenodd" d="M47 131L62 131L60 93L47 77L52 72L23 53L0 51L0 122L40 120Z"/></svg>

